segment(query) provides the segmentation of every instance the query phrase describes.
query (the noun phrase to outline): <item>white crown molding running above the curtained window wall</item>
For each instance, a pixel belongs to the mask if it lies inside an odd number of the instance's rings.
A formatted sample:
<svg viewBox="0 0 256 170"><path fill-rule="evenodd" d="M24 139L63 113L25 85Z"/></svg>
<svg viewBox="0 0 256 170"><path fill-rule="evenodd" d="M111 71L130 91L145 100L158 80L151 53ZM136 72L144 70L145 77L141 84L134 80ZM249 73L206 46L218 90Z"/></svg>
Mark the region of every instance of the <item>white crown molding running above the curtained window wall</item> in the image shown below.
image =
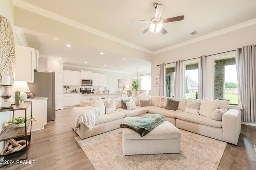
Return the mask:
<svg viewBox="0 0 256 170"><path fill-rule="evenodd" d="M192 43L195 43L195 42L198 42L198 41L202 41L204 39L208 39L208 38L211 38L211 37L215 37L215 36L218 36L218 35L221 35L221 34L224 34L224 33L228 33L228 32L231 32L231 31L235 31L237 29L241 29L241 28L244 28L244 27L248 27L250 25L254 25L256 24L256 18L252 19L252 20L248 20L248 21L245 21L245 22L242 22L242 23L238 23L236 25L232 25L230 27L226 27L224 29L220 29L218 31L214 31L212 33L208 33L206 35L202 35L200 37L196 37L196 38L193 38L193 39L190 39L188 41L184 41L182 43L178 43L178 44L175 44L175 45L171 45L169 47L166 47L166 48L163 48L163 49L160 49L160 50L157 50L157 51L154 51L153 52L153 55L156 55L158 53L162 53L162 52L165 52L165 51L169 51L169 50L172 50L172 49L176 49L178 47L182 47L184 45L188 45L188 44L192 44Z"/></svg>

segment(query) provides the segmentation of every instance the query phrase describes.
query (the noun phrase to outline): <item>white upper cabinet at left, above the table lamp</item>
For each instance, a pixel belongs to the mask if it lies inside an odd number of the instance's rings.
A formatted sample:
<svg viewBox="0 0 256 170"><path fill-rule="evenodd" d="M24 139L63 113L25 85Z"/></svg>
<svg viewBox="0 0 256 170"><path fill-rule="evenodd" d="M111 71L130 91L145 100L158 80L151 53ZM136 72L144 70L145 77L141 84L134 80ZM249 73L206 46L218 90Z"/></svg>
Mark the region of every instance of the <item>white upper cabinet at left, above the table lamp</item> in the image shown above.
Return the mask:
<svg viewBox="0 0 256 170"><path fill-rule="evenodd" d="M15 53L15 81L34 83L34 70L38 67L38 59L36 58L34 49L15 45Z"/></svg>

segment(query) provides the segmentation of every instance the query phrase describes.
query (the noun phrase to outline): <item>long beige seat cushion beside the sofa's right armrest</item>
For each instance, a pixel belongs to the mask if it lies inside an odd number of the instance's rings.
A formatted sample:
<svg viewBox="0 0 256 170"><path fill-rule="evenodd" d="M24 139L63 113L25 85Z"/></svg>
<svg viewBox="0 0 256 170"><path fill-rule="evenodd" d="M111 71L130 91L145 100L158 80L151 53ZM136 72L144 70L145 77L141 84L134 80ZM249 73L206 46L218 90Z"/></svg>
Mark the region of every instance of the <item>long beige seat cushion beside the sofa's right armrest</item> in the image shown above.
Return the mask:
<svg viewBox="0 0 256 170"><path fill-rule="evenodd" d="M184 120L184 121L198 123L201 125L207 125L207 126L212 126L212 127L222 127L222 121L216 121L216 120L211 119L210 117L205 117L202 115L194 115L194 114L191 114L188 112L178 113L176 115L176 118Z"/></svg>

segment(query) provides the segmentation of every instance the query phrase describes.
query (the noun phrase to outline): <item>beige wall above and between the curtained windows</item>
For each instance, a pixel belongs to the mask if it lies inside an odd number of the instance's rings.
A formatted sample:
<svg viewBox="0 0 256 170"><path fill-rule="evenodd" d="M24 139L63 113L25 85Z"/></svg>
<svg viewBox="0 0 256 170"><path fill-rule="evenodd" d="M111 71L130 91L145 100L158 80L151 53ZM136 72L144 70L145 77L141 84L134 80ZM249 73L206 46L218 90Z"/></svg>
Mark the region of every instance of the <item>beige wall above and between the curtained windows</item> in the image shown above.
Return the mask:
<svg viewBox="0 0 256 170"><path fill-rule="evenodd" d="M163 53L154 55L153 64L151 66L152 71L152 96L159 96L159 88L153 87L153 76L159 75L159 66L161 63L172 63L178 60L186 60L191 58L200 57L200 55L212 55L216 53L221 53L224 51L231 51L236 48L256 44L256 25L251 25L249 27L244 27L235 31L224 33L216 37L208 38L202 41L198 41L189 45L178 47ZM207 86L206 86L206 96L213 99L213 64L212 60L216 57L234 55L235 52L224 53L221 55L215 55L207 57L206 72L207 72ZM186 61L193 62L193 60ZM184 62L184 63L186 63Z"/></svg>

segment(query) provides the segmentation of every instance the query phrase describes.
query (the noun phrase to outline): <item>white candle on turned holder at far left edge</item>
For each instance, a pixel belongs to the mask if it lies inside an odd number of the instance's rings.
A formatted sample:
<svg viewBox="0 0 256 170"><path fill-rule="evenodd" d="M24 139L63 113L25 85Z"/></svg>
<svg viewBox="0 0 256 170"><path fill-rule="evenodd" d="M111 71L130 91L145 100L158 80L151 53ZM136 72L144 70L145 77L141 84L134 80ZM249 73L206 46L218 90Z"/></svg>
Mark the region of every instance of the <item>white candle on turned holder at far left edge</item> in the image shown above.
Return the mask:
<svg viewBox="0 0 256 170"><path fill-rule="evenodd" d="M2 93L1 98L4 100L1 109L13 109L12 104L10 102L10 98L12 94L10 94L10 76L2 75L2 88L4 88L4 92Z"/></svg>

